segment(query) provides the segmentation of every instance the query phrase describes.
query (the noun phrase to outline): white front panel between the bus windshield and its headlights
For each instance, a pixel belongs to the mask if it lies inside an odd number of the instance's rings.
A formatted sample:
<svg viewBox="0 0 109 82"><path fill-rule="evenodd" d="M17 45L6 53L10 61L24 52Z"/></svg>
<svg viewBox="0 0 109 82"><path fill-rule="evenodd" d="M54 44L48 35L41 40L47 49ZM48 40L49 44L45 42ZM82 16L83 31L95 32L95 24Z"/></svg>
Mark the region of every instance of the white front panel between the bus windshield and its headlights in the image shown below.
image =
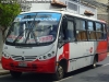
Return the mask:
<svg viewBox="0 0 109 82"><path fill-rule="evenodd" d="M9 55L15 55L15 56L41 56L47 54L48 51L50 51L53 48L53 44L49 45L49 46L37 46L37 47L17 47L17 46L8 46L4 45L4 48L7 47L8 49L3 49L4 51L7 50L7 52ZM14 51L11 51L14 50ZM41 51L43 50L43 51Z"/></svg>

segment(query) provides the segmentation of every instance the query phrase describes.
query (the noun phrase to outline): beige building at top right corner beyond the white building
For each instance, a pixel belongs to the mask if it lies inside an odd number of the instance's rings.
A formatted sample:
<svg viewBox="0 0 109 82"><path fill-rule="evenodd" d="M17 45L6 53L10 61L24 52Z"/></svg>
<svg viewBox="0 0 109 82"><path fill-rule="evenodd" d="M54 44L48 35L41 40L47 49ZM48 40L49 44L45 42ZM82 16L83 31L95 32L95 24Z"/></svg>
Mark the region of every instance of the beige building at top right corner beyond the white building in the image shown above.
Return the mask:
<svg viewBox="0 0 109 82"><path fill-rule="evenodd" d="M106 21L109 24L109 0L81 0L86 4L95 5L97 8L97 19Z"/></svg>

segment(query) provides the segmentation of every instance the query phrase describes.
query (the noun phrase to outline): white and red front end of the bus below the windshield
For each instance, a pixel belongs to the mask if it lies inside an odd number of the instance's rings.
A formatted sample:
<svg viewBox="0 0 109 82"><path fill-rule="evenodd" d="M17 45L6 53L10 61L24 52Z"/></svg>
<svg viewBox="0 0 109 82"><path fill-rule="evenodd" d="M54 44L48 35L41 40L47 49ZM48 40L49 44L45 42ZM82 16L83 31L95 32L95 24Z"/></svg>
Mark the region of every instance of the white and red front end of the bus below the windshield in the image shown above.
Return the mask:
<svg viewBox="0 0 109 82"><path fill-rule="evenodd" d="M8 47L5 49L5 47ZM43 47L31 48L15 48L14 46L4 45L3 51L9 54L10 58L2 57L2 67L5 70L22 71L22 72L37 72L37 73L55 73L56 72L56 47L53 44ZM13 51L11 51L13 50ZM45 52L44 52L45 51ZM55 51L55 56L49 59L40 59L40 56L51 54ZM41 55L39 55L39 52ZM14 56L13 56L14 55ZM22 57L25 59L22 60ZM23 62L26 66L21 67L20 63Z"/></svg>

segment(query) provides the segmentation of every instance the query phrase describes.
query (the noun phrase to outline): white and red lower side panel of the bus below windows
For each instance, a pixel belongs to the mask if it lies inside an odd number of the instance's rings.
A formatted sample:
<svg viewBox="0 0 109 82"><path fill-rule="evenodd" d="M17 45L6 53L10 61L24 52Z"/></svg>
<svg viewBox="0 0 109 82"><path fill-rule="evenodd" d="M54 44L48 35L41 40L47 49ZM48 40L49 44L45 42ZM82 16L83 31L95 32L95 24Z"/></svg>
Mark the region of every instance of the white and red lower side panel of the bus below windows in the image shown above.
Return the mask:
<svg viewBox="0 0 109 82"><path fill-rule="evenodd" d="M98 55L98 61L107 57L107 42L73 42L65 44L58 49L57 60L66 59L69 61L68 72L71 72L93 65L95 55Z"/></svg>

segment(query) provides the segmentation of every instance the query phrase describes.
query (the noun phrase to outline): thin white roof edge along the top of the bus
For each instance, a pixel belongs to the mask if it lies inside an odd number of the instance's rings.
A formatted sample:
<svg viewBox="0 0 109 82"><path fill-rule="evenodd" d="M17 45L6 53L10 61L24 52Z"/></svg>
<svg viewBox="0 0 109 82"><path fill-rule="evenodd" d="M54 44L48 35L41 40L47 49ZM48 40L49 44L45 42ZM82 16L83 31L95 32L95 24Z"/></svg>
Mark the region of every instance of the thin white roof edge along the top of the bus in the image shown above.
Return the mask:
<svg viewBox="0 0 109 82"><path fill-rule="evenodd" d="M28 11L28 12L22 12L20 14L24 14L24 13L31 13L31 12L56 12L56 13L61 13L63 14L68 14L68 15L72 15L72 16L77 16L81 19L86 19L86 20L90 20L90 21L97 21L97 22L101 22L101 23L106 23L105 21L101 20L97 20L97 19L93 19L86 15L80 15L80 14L75 14L73 12L68 12L68 11L63 11L62 9L55 9L55 10L36 10L36 11Z"/></svg>

